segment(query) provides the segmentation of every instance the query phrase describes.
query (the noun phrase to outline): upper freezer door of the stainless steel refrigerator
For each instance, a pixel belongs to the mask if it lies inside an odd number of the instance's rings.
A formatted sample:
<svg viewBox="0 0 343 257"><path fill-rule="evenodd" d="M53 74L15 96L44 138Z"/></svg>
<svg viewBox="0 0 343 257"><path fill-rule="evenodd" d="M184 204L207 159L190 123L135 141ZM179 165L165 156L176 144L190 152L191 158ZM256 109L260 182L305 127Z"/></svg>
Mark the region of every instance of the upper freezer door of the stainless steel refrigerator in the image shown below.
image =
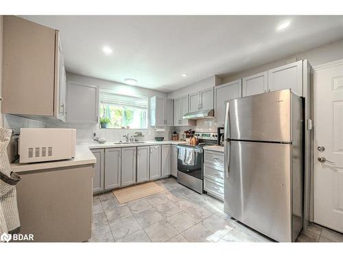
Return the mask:
<svg viewBox="0 0 343 257"><path fill-rule="evenodd" d="M234 140L291 142L290 105L290 90L228 101L228 137Z"/></svg>

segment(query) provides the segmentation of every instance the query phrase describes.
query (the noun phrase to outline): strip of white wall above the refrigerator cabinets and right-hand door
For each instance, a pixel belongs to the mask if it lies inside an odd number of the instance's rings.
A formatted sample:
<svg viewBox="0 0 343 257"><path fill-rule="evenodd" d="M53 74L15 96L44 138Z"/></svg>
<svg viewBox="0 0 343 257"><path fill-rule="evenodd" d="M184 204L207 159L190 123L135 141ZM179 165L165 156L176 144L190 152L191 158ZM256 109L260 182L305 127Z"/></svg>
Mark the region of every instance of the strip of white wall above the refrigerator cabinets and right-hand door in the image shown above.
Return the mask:
<svg viewBox="0 0 343 257"><path fill-rule="evenodd" d="M255 68L252 68L252 69L246 69L243 71L239 71L237 73L228 74L221 77L223 78L223 83L232 82L236 79L240 79L241 77L248 77L249 75L254 75L262 71L268 71L269 69L282 66L284 64L287 64L288 60L292 60L294 58L296 58L296 60L307 59L309 60L309 63L312 66L342 59L343 58L343 39L335 41L335 42L331 42L326 45L322 45L320 47L309 49L301 53L296 53L292 56L287 56L286 58L283 58L276 62L270 62L268 64L256 66Z"/></svg>

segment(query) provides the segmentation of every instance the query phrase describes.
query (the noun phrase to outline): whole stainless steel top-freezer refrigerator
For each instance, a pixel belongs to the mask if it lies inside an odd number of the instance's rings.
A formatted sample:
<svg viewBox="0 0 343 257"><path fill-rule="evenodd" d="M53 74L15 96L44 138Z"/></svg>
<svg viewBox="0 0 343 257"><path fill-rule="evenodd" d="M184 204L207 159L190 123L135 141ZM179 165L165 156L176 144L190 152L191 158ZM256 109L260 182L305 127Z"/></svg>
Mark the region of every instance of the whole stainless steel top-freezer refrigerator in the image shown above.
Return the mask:
<svg viewBox="0 0 343 257"><path fill-rule="evenodd" d="M290 90L226 104L224 210L275 241L303 228L303 103Z"/></svg>

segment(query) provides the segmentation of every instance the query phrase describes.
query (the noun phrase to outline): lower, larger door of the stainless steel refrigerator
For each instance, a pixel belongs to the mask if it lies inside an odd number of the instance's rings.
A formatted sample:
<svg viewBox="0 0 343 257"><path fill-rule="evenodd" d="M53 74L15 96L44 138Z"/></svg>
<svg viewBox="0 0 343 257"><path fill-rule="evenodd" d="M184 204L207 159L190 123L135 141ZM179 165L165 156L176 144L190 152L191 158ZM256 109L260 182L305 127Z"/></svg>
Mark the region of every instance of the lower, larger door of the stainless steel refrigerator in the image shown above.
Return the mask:
<svg viewBox="0 0 343 257"><path fill-rule="evenodd" d="M291 147L231 141L225 181L228 214L280 242L292 241Z"/></svg>

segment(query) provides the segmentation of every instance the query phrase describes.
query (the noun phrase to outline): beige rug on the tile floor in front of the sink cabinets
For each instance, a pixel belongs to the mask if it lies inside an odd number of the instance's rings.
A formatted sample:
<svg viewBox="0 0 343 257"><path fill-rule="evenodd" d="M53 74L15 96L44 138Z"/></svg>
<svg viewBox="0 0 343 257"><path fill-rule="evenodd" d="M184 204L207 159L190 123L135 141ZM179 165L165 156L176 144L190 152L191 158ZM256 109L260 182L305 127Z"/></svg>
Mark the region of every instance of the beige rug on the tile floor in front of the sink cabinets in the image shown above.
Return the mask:
<svg viewBox="0 0 343 257"><path fill-rule="evenodd" d="M113 194L117 197L119 204L125 204L128 201L133 201L139 198L154 195L165 191L165 188L158 186L155 182L147 182L135 186L128 186L113 190Z"/></svg>

